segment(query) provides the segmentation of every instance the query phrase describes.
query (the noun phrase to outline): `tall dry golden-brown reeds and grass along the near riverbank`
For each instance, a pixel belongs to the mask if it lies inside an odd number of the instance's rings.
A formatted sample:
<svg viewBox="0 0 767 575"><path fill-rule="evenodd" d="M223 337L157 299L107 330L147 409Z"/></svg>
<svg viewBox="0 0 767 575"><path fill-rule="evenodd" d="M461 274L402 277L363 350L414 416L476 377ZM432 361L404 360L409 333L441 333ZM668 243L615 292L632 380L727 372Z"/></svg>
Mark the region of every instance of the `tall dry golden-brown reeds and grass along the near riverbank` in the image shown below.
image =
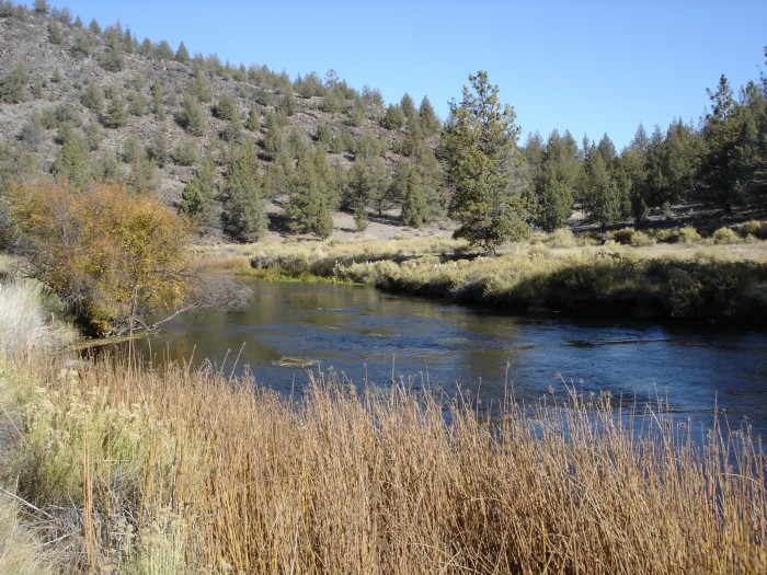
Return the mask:
<svg viewBox="0 0 767 575"><path fill-rule="evenodd" d="M486 425L438 390L332 373L289 400L209 367L32 356L7 484L66 573L767 570L747 429L616 417L564 386Z"/></svg>

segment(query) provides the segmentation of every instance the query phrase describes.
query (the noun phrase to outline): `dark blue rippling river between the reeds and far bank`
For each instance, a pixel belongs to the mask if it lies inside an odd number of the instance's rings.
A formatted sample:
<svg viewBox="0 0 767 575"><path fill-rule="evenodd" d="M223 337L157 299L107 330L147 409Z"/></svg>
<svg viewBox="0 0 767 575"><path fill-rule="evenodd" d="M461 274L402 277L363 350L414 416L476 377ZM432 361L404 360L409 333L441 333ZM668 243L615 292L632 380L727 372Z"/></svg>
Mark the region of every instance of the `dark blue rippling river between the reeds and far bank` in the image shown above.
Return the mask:
<svg viewBox="0 0 767 575"><path fill-rule="evenodd" d="M369 287L242 281L253 287L247 309L179 317L140 345L154 356L208 358L227 375L248 369L286 393L300 392L307 369L331 368L357 384L393 376L415 389L479 388L485 404L505 389L526 403L564 395L566 383L623 403L661 396L677 419L703 425L718 406L731 426L747 418L767 438L767 333L512 317Z"/></svg>

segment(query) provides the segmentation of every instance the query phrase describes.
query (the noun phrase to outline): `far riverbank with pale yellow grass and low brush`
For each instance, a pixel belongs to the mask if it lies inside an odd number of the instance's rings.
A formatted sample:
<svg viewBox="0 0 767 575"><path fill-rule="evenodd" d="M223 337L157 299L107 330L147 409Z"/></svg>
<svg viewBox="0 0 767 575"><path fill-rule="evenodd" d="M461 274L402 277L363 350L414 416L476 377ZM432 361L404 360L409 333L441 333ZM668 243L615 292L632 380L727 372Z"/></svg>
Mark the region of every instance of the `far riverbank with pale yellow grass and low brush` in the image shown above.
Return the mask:
<svg viewBox="0 0 767 575"><path fill-rule="evenodd" d="M668 243L619 230L598 244L559 232L499 256L450 240L407 240L228 246L201 257L268 278L363 283L508 311L763 325L766 243L726 234L717 243L692 232L659 232Z"/></svg>

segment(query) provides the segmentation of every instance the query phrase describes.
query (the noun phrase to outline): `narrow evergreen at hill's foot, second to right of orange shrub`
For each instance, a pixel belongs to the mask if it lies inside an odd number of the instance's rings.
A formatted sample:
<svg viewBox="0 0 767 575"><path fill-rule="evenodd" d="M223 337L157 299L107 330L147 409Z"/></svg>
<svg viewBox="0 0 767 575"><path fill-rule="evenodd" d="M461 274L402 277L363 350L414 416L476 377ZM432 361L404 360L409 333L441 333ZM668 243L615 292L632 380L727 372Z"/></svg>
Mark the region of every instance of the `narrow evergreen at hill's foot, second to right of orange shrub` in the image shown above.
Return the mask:
<svg viewBox="0 0 767 575"><path fill-rule="evenodd" d="M266 230L261 205L259 158L250 138L232 150L224 185L225 231L234 240L254 242Z"/></svg>

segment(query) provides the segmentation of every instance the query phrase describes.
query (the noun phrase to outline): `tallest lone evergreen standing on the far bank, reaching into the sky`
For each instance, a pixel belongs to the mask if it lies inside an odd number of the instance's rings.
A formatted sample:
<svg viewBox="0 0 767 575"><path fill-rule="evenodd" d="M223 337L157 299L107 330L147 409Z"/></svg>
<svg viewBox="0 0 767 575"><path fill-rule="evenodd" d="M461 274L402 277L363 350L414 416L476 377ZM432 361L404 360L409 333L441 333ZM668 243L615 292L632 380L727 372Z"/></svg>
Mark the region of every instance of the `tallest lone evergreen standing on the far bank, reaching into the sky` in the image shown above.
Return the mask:
<svg viewBox="0 0 767 575"><path fill-rule="evenodd" d="M462 102L450 103L443 140L456 189L451 210L460 223L454 237L494 252L529 233L522 195L524 158L516 146L514 110L501 105L497 87L483 71L469 81L473 92L465 87Z"/></svg>

